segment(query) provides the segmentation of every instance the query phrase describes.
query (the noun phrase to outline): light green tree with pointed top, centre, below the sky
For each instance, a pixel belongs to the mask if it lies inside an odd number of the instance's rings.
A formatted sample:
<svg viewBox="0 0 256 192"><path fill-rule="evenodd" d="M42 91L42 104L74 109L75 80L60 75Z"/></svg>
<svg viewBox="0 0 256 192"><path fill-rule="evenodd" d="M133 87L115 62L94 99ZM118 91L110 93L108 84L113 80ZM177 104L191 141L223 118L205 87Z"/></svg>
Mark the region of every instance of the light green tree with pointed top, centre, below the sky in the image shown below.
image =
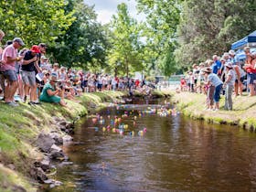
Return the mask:
<svg viewBox="0 0 256 192"><path fill-rule="evenodd" d="M112 69L129 76L135 70L142 70L143 52L140 25L129 16L127 5L117 6L117 16L112 17L108 59Z"/></svg>

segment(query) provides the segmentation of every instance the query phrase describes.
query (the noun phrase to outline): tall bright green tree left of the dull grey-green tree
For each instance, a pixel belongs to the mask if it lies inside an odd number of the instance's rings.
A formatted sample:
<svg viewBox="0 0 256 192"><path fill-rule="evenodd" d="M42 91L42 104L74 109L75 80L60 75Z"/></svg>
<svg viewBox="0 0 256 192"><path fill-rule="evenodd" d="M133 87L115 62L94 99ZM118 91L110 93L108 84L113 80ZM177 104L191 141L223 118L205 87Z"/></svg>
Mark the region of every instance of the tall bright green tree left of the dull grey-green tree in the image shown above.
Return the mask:
<svg viewBox="0 0 256 192"><path fill-rule="evenodd" d="M180 1L178 0L137 0L138 10L146 16L144 37L147 63L154 71L169 76L176 71L174 50L176 48L176 27L180 18ZM172 51L172 52L170 52Z"/></svg>

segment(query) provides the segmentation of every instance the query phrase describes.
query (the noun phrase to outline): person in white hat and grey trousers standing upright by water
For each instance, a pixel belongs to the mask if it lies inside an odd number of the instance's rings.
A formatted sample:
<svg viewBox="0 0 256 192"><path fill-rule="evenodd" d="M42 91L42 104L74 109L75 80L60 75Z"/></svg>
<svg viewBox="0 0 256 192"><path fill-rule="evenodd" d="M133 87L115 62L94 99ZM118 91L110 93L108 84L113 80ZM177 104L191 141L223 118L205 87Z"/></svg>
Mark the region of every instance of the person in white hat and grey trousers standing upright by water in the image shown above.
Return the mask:
<svg viewBox="0 0 256 192"><path fill-rule="evenodd" d="M225 64L226 67L226 80L223 83L223 88L225 88L225 106L224 110L232 110L233 109L233 103L232 103L232 93L234 90L234 83L236 80L236 74L233 70L233 65L231 62L228 62Z"/></svg>

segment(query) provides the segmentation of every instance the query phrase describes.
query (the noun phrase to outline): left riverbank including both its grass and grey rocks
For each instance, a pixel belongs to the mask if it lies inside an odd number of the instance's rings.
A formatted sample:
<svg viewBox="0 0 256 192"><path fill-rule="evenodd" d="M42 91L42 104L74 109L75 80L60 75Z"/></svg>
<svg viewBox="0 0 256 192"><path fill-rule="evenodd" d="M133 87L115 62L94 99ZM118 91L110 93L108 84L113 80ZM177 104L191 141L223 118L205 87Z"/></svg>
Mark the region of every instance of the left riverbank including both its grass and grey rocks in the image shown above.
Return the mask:
<svg viewBox="0 0 256 192"><path fill-rule="evenodd" d="M153 92L154 97L167 95ZM48 161L67 158L57 145L69 140L73 123L127 96L128 92L120 91L84 93L78 98L80 102L67 101L65 108L50 103L20 103L11 108L0 102L0 191L37 191L38 182L48 179L50 174Z"/></svg>

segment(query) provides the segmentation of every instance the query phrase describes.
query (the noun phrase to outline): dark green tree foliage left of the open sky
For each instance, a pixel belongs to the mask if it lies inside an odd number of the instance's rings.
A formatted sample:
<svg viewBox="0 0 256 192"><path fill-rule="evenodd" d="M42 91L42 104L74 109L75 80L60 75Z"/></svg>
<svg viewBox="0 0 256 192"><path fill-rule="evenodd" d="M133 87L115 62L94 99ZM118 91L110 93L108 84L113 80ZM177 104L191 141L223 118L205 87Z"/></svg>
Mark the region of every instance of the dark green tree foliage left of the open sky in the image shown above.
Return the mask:
<svg viewBox="0 0 256 192"><path fill-rule="evenodd" d="M69 0L66 12L74 12L76 20L67 32L56 40L50 48L52 56L61 65L83 69L101 69L105 62L107 40L103 29L96 22L93 7L80 0Z"/></svg>

